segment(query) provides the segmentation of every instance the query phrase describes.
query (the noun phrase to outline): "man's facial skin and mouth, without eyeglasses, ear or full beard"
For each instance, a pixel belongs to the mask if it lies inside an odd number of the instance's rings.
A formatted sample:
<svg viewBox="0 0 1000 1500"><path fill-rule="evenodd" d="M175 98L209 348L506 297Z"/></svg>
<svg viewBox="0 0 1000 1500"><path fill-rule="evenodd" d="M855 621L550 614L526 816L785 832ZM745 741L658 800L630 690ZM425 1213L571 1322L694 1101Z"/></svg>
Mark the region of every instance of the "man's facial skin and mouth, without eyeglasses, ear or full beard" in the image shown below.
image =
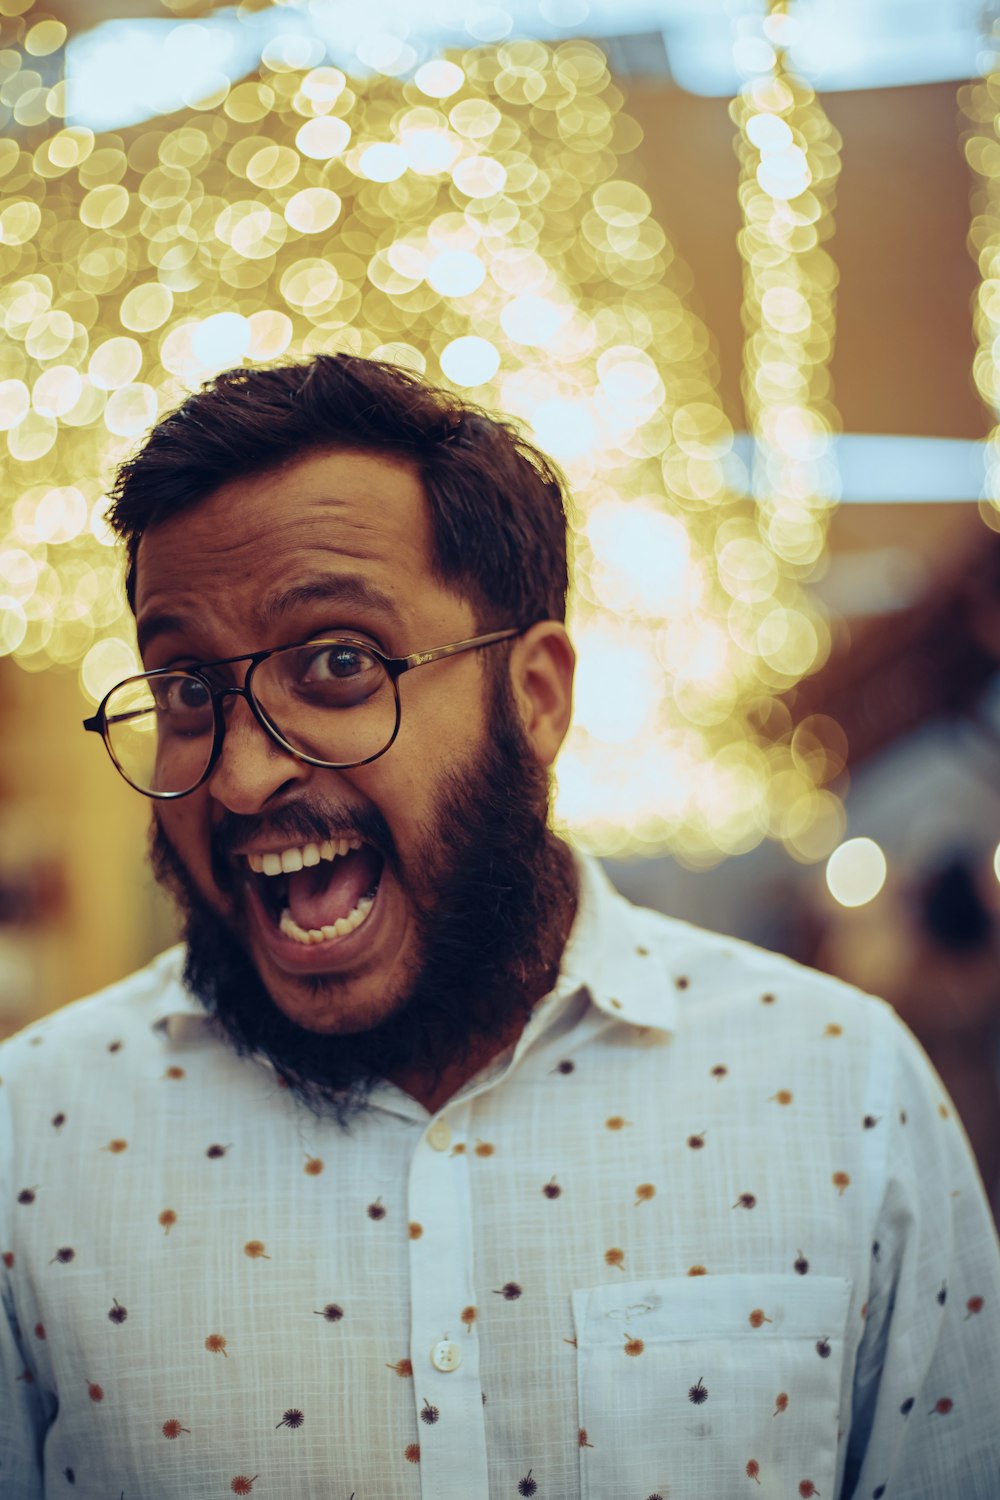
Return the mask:
<svg viewBox="0 0 1000 1500"><path fill-rule="evenodd" d="M139 544L144 663L205 662L327 633L387 656L474 636L471 604L433 578L430 556L421 484L400 464L322 452L234 480ZM243 666L228 670L243 680ZM391 750L330 771L285 753L249 705L229 698L208 782L156 804L201 900L238 924L274 1002L309 1029L369 1029L412 978L421 892L448 860L433 840L436 794L447 774L475 762L486 735L481 654L406 674L400 699ZM310 867L312 850L328 855L324 843L337 836L363 846ZM264 855L294 866L292 850L306 858L298 872L274 879L250 867ZM282 910L303 933L339 918L351 930L306 942L288 922L282 930Z"/></svg>

